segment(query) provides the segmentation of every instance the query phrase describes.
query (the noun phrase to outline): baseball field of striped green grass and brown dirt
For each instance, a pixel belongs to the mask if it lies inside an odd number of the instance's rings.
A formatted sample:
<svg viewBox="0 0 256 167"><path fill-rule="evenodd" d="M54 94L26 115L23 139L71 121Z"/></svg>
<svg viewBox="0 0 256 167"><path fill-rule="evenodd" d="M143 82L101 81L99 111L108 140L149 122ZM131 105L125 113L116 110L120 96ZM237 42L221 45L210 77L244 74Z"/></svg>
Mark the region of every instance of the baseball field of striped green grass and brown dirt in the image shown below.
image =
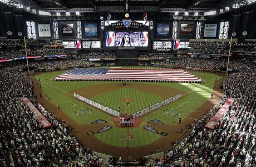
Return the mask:
<svg viewBox="0 0 256 167"><path fill-rule="evenodd" d="M222 95L220 84L215 82L220 77L213 73L190 72L205 80L205 83L200 84L127 82L124 87L121 82L53 80L63 72L65 71L40 73L33 79L35 94L38 98L40 93L42 94L39 98L42 105L71 125L77 139L90 149L110 155L126 156L126 153L123 155L120 152L126 152L129 144L131 152L134 153L131 159L155 153L157 145L160 145L162 151L169 149L175 139L181 138L185 131L189 130L191 122L203 117ZM117 117L87 105L73 97L73 93L111 109L118 110L120 107L121 115L133 114L179 93L182 97L143 115L136 120L136 127L128 129L118 126ZM211 93L214 94L213 99L210 99ZM48 99L44 98L44 94ZM130 103L129 106L127 102ZM60 105L60 109L57 105ZM182 120L181 124L179 118ZM104 120L105 123L92 124L96 120ZM150 120L159 120L163 124L149 123ZM152 126L156 133L145 129L146 125ZM183 133L180 133L181 125L184 126ZM110 129L99 133L104 126L110 126Z"/></svg>

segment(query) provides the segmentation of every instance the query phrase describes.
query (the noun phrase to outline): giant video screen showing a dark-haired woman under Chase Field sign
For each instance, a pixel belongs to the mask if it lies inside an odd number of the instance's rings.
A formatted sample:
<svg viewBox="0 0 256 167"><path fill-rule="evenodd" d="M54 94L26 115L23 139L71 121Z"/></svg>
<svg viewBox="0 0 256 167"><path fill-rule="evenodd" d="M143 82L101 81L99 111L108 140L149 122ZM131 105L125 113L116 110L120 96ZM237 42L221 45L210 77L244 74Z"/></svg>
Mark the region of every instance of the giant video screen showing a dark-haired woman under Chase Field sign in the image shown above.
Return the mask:
<svg viewBox="0 0 256 167"><path fill-rule="evenodd" d="M105 33L106 47L148 47L149 32L113 32Z"/></svg>

